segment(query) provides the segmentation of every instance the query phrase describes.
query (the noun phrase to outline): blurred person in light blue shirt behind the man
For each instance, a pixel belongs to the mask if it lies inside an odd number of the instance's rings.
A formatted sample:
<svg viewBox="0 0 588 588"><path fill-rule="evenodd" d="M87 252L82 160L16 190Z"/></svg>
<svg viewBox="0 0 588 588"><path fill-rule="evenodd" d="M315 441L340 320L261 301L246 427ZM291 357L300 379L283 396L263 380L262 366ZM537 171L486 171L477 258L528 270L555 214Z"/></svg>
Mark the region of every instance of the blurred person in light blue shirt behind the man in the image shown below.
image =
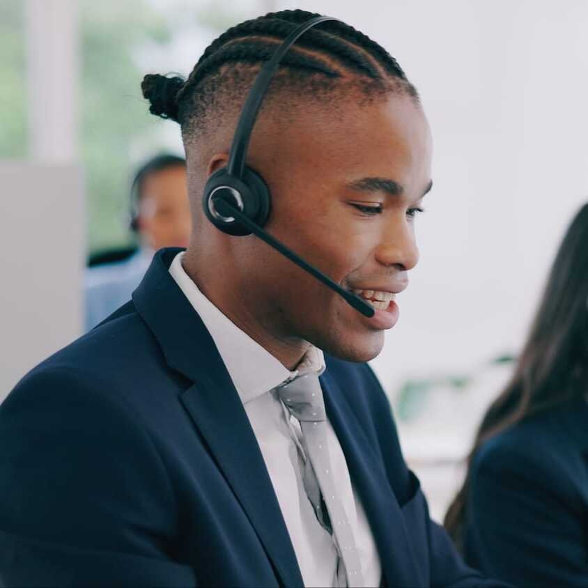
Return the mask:
<svg viewBox="0 0 588 588"><path fill-rule="evenodd" d="M186 160L162 153L145 162L131 188L130 229L139 249L129 258L86 270L86 331L130 300L153 253L162 247L187 247L191 230Z"/></svg>

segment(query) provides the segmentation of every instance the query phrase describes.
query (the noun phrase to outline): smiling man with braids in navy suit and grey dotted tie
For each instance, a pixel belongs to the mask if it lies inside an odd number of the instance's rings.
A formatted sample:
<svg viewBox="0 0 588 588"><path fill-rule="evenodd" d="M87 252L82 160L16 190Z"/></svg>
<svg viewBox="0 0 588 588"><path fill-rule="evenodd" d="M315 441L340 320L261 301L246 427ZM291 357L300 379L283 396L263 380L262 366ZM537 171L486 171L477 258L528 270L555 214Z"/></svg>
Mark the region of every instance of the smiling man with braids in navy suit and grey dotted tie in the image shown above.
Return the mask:
<svg viewBox="0 0 588 588"><path fill-rule="evenodd" d="M497 585L429 519L364 363L398 318L431 187L428 123L396 61L346 24L309 31L247 159L272 194L268 233L371 301L372 318L203 212L244 88L311 16L240 24L186 82L144 80L151 111L182 125L192 240L156 254L132 302L0 409L6 583Z"/></svg>

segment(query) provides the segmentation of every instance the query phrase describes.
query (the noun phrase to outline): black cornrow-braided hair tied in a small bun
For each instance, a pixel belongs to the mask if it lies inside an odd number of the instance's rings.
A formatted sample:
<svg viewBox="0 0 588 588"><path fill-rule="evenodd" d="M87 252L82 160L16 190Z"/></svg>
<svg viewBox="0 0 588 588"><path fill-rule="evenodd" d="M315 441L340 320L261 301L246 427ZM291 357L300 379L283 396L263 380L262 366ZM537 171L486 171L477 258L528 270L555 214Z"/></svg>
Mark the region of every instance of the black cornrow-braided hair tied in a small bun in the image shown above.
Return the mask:
<svg viewBox="0 0 588 588"><path fill-rule="evenodd" d="M204 51L192 73L179 76L148 74L141 84L151 114L180 123L183 132L203 127L213 110L223 111L245 99L263 61L300 23L318 14L281 10L247 20L222 33ZM383 47L353 26L326 21L297 40L280 62L271 93L296 88L297 94L325 98L348 83L365 98L404 92L419 96L402 68Z"/></svg>

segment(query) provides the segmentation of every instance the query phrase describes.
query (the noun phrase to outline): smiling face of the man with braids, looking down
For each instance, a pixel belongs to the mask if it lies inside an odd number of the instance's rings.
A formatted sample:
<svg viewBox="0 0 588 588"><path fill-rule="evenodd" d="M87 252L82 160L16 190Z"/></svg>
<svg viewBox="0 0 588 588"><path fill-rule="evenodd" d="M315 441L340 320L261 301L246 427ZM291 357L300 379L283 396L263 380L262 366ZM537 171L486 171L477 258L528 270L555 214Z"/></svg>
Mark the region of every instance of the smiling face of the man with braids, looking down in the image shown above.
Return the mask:
<svg viewBox="0 0 588 588"><path fill-rule="evenodd" d="M240 297L281 343L309 341L366 361L396 323L391 298L418 261L415 216L431 186L428 123L401 94L362 107L340 100L328 114L292 118L252 138L250 164L272 194L265 229L343 288L380 298L380 309L362 316L253 235L236 238L233 249Z"/></svg>

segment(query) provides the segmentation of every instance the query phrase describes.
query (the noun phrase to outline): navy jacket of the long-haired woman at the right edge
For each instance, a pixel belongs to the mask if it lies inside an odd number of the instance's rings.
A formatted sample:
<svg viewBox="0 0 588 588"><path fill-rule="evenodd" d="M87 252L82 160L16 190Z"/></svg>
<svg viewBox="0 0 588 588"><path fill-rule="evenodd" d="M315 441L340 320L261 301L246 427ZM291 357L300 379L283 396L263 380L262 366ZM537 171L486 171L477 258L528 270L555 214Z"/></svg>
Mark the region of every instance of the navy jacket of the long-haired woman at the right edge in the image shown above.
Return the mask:
<svg viewBox="0 0 588 588"><path fill-rule="evenodd" d="M472 464L465 555L520 586L588 586L588 405L486 442Z"/></svg>

